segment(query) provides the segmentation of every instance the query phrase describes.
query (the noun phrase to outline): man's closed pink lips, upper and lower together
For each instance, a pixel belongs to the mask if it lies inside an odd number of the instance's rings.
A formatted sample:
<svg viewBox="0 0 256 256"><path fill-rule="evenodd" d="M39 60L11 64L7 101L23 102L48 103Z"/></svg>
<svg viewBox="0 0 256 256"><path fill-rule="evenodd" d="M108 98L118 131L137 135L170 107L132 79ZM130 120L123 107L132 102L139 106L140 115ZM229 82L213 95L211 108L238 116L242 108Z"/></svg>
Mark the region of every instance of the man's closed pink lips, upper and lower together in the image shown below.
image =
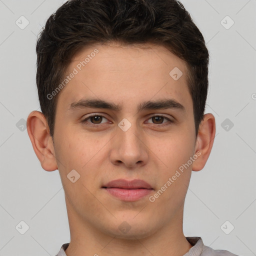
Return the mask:
<svg viewBox="0 0 256 256"><path fill-rule="evenodd" d="M123 201L139 200L153 190L153 188L142 179L115 179L103 185L102 188Z"/></svg>

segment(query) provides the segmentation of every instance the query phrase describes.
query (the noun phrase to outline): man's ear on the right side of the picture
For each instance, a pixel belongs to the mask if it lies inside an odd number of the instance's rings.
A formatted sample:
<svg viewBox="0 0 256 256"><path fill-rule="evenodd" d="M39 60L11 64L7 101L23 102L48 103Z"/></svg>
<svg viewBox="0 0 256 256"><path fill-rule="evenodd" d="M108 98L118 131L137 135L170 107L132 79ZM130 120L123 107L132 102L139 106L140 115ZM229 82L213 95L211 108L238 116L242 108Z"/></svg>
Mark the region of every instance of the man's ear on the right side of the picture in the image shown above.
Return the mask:
<svg viewBox="0 0 256 256"><path fill-rule="evenodd" d="M198 129L198 135L195 142L195 153L197 158L193 161L192 170L201 170L211 151L215 137L215 118L213 114L207 113L203 115Z"/></svg>

